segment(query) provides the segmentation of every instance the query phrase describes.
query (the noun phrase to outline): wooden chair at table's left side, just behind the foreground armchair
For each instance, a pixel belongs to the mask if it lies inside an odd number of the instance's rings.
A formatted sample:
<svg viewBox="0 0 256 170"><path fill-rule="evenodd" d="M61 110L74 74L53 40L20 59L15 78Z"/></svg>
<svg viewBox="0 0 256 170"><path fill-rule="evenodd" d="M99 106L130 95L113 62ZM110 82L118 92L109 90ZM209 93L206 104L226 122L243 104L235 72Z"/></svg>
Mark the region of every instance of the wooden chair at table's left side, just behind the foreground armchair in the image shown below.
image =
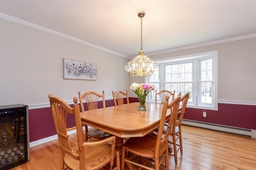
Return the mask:
<svg viewBox="0 0 256 170"><path fill-rule="evenodd" d="M86 92L81 96L81 93L78 92L78 96L79 96L81 111L84 111L83 100L85 100L88 106L88 110L98 109L98 100L100 98L102 98L103 108L106 107L104 90L102 91L102 95L97 92ZM84 125L84 126L85 126L85 134L86 134L85 141L87 141L89 138L97 139L98 141L100 141L102 139L106 139L112 136L111 134L96 128L91 128L90 130L88 130L88 126L87 125Z"/></svg>

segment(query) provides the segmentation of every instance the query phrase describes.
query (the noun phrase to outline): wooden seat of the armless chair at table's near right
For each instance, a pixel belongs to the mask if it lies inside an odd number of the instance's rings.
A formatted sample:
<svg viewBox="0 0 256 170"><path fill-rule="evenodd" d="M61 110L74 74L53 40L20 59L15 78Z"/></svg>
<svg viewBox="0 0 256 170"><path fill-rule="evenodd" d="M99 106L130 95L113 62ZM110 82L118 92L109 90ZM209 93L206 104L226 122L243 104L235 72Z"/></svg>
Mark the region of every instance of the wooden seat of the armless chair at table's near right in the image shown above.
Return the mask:
<svg viewBox="0 0 256 170"><path fill-rule="evenodd" d="M154 158L156 138L152 135L146 135L144 137L132 137L125 143L126 150L145 158ZM164 152L165 145L160 146L159 156Z"/></svg>

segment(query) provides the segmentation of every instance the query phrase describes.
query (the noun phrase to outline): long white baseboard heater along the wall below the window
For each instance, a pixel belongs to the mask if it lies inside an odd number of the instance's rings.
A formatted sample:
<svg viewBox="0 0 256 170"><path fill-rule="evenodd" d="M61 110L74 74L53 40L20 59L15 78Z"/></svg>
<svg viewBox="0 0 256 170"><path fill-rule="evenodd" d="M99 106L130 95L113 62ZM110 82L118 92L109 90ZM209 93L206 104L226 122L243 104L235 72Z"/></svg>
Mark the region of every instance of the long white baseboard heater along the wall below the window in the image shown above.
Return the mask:
<svg viewBox="0 0 256 170"><path fill-rule="evenodd" d="M182 124L196 126L196 127L202 127L202 128L206 128L206 129L212 129L212 130L216 130L216 131L234 133L234 134L239 134L239 135L244 135L244 136L250 136L250 137L252 136L251 129L218 125L218 124L214 124L214 123L206 123L206 122L193 121L193 120L188 120L188 119L183 119Z"/></svg>

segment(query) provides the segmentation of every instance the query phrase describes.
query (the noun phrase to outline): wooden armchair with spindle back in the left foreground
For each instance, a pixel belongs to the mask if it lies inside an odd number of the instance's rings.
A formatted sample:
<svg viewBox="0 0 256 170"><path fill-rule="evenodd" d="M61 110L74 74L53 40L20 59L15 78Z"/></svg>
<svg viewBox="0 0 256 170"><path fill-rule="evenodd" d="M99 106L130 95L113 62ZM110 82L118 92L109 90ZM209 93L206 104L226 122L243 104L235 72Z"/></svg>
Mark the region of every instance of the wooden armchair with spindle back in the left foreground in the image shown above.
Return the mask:
<svg viewBox="0 0 256 170"><path fill-rule="evenodd" d="M74 97L74 108L72 108L60 98L52 97L51 94L48 95L48 98L60 144L60 170L64 169L64 165L70 170L96 170L108 163L110 163L110 169L113 169L115 157L117 162L113 170L119 170L119 152L115 152L116 137L112 136L102 141L84 142L78 99ZM75 127L66 127L68 115L75 117ZM70 145L67 133L73 129L76 129L78 140L78 146L74 147ZM108 143L112 143L112 145Z"/></svg>

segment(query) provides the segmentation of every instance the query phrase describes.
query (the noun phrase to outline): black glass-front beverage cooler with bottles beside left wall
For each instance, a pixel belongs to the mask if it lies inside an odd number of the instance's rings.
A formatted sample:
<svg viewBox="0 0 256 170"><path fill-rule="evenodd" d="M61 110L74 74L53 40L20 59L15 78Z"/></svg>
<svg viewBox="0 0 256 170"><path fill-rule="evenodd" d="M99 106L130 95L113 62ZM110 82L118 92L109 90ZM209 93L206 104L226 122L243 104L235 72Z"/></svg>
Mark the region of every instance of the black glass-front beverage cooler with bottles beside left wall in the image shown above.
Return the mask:
<svg viewBox="0 0 256 170"><path fill-rule="evenodd" d="M0 106L0 170L29 159L28 106Z"/></svg>

